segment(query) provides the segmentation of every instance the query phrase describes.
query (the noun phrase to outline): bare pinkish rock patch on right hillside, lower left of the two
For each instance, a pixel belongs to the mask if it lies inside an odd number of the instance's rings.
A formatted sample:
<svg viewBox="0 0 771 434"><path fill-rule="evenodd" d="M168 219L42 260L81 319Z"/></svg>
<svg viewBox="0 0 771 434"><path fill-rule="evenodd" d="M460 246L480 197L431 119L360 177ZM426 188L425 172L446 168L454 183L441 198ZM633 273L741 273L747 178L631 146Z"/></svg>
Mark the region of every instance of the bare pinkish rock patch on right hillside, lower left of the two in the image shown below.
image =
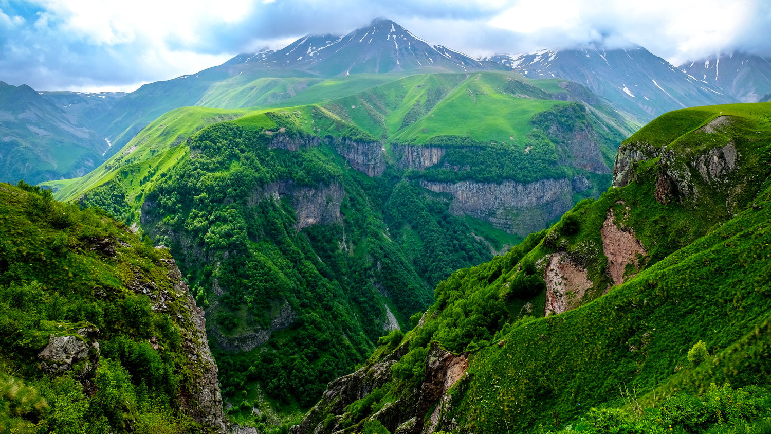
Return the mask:
<svg viewBox="0 0 771 434"><path fill-rule="evenodd" d="M562 254L548 257L546 270L546 308L544 315L561 314L581 305L584 294L594 286L586 268L575 264Z"/></svg>

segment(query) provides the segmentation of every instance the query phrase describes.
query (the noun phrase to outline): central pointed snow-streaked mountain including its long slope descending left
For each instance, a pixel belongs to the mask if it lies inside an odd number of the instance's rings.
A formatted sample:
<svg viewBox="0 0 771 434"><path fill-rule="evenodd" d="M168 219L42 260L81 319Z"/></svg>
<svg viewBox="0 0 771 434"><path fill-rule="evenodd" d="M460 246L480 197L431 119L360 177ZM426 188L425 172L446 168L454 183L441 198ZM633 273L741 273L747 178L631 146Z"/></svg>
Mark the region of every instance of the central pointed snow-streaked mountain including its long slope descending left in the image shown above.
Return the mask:
<svg viewBox="0 0 771 434"><path fill-rule="evenodd" d="M306 35L275 52L266 49L239 54L221 66L144 85L104 113L97 128L117 146L123 146L163 113L183 106L212 106L213 99L219 102L214 106L238 109L271 103L276 96L294 96L321 82L320 78L332 76L466 72L496 67L442 45L430 45L396 22L375 19L345 36ZM295 89L291 89L293 82L298 82ZM224 99L222 93L231 97ZM244 99L243 93L251 98ZM268 96L267 101L261 96Z"/></svg>

